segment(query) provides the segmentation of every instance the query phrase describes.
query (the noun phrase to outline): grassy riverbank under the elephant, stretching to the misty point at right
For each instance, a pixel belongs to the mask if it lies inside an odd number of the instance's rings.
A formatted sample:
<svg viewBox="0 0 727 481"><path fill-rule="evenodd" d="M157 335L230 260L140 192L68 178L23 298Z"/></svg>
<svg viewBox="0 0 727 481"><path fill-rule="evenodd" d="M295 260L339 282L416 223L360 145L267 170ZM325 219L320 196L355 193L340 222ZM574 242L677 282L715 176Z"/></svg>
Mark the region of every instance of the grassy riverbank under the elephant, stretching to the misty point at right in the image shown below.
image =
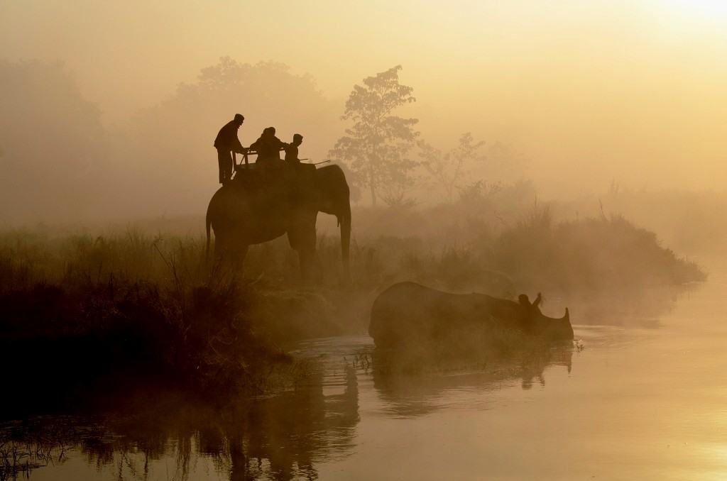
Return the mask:
<svg viewBox="0 0 727 481"><path fill-rule="evenodd" d="M342 278L337 236L321 228L326 272L312 287L300 285L284 238L252 248L241 270L207 263L201 235L150 236L144 227L8 231L0 236L0 351L21 373L32 373L25 379L40 376L27 381L28 392L72 396L69 386L151 381L214 397L291 382L302 367L286 354L289 347L365 332L372 300L399 280L516 299L521 292L638 290L705 278L624 217L555 222L547 208L528 212L492 227L494 214L457 205L406 215L358 211L351 278ZM422 229L437 217L449 227ZM401 233L407 223L414 235L382 233ZM436 353L428 357L443 355ZM419 357L427 355L412 362Z"/></svg>

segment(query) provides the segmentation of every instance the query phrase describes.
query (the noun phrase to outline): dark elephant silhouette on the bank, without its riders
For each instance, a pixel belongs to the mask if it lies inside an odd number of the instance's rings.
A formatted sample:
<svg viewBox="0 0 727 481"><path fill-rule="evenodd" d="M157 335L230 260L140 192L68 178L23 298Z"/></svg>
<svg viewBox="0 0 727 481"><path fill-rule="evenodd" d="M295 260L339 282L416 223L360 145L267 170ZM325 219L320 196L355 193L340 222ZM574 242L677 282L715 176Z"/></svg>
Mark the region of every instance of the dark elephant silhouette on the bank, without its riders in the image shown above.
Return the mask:
<svg viewBox="0 0 727 481"><path fill-rule="evenodd" d="M287 233L297 251L303 278L320 264L316 254L316 217L326 212L341 228L341 254L348 276L351 209L346 177L339 166L315 169L305 164L265 171L239 171L220 187L207 207L206 233L214 230L214 254L244 259L250 244L272 241Z"/></svg>

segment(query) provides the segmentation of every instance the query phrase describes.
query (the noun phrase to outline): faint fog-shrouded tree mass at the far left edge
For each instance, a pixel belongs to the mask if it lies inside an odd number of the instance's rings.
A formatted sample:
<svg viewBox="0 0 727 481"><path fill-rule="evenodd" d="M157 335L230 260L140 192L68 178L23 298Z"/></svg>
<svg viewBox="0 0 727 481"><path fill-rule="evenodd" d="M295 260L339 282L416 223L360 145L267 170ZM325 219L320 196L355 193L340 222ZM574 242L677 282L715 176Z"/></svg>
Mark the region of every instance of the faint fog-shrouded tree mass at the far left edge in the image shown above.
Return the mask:
<svg viewBox="0 0 727 481"><path fill-rule="evenodd" d="M96 214L108 145L95 102L62 62L0 61L0 218Z"/></svg>

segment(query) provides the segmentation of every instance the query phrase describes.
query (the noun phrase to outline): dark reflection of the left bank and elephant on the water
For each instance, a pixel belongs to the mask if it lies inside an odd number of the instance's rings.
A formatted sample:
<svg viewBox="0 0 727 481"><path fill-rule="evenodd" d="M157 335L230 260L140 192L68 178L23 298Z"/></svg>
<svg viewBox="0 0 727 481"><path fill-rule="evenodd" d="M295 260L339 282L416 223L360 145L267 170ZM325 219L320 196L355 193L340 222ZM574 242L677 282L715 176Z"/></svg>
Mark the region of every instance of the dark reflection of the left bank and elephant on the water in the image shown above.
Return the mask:
<svg viewBox="0 0 727 481"><path fill-rule="evenodd" d="M324 395L324 389L337 392ZM25 479L79 453L106 479L187 480L209 464L218 479L230 481L314 480L316 461L350 452L357 423L358 382L347 366L325 380L324 373L313 374L292 392L222 408L172 398L133 413L6 423L0 429L0 480ZM166 461L172 460L169 470Z"/></svg>

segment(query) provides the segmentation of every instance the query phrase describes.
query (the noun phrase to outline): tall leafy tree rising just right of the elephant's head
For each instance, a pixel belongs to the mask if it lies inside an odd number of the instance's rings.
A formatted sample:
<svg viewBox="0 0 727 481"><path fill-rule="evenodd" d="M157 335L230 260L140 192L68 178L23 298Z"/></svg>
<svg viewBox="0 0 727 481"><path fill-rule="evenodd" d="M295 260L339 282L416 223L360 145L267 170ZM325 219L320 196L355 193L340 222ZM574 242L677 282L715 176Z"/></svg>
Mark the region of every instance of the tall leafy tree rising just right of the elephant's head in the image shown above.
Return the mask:
<svg viewBox="0 0 727 481"><path fill-rule="evenodd" d="M414 131L416 118L401 118L393 111L416 99L409 86L399 84L401 65L376 76L364 78L356 85L346 102L342 120L353 121L329 155L349 163L355 184L371 193L371 205L377 195L387 203L402 203L406 190L413 183L412 171L417 162L406 155L419 132Z"/></svg>

